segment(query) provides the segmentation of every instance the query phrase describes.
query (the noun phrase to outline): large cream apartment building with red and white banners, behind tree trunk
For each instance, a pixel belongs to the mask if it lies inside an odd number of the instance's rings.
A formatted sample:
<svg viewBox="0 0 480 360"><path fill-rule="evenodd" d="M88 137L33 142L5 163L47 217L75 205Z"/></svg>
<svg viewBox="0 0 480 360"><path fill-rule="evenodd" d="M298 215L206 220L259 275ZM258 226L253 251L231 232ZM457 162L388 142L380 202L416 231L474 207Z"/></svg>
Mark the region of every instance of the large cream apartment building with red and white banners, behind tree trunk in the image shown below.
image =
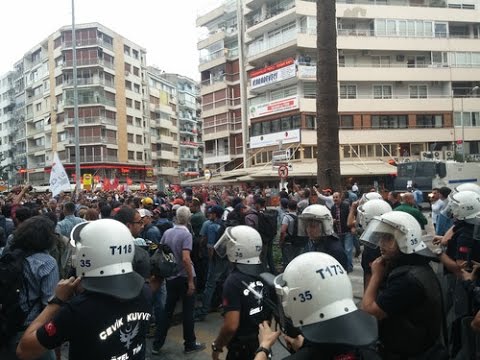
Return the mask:
<svg viewBox="0 0 480 360"><path fill-rule="evenodd" d="M293 169L315 166L315 1L244 0L243 47L232 35L236 11L227 2L197 19L208 32L198 43L206 156L213 155L206 166L235 157L235 132L219 129L219 119L232 124L221 96L237 101L226 79L239 71L228 68L238 61L228 57L233 49L245 59L248 165L267 164L280 147ZM337 0L336 14L342 169L354 161L479 157L478 0Z"/></svg>

